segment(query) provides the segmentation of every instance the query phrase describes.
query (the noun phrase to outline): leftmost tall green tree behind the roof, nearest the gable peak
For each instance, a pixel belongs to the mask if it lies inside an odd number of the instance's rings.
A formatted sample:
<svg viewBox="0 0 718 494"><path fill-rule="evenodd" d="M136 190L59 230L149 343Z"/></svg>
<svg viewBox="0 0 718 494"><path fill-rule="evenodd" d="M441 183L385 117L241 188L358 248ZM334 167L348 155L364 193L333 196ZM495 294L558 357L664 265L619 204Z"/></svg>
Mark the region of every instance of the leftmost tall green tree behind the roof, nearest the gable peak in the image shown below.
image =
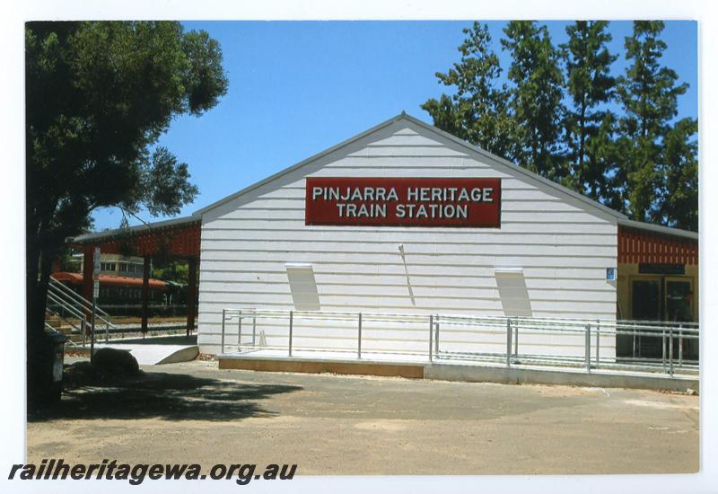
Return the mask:
<svg viewBox="0 0 718 494"><path fill-rule="evenodd" d="M508 114L505 84L498 84L501 66L490 49L491 35L486 24L474 22L459 47L461 59L446 74L436 73L439 83L455 87L451 96L430 99L421 108L433 118L433 125L486 151L512 159L513 119Z"/></svg>

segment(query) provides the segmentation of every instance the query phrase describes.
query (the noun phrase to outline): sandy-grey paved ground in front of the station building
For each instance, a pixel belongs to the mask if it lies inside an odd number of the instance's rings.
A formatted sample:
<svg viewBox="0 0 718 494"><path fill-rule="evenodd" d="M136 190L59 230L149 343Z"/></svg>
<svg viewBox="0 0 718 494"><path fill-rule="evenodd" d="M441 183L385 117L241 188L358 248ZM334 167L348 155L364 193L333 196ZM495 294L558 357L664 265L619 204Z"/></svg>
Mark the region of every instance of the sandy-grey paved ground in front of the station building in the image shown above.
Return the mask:
<svg viewBox="0 0 718 494"><path fill-rule="evenodd" d="M698 397L143 366L28 423L29 461L297 463L304 474L698 469Z"/></svg>

